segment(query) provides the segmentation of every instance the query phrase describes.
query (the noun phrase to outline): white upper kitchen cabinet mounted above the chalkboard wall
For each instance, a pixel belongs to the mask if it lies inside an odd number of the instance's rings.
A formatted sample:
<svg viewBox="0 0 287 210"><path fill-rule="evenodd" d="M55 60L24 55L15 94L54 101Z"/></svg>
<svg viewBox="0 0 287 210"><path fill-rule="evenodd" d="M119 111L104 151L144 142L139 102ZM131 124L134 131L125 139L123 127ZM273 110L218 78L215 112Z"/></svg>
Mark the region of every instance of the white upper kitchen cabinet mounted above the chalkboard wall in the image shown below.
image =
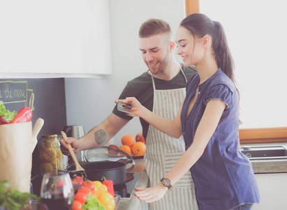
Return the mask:
<svg viewBox="0 0 287 210"><path fill-rule="evenodd" d="M112 73L109 17L106 0L1 1L1 77Z"/></svg>

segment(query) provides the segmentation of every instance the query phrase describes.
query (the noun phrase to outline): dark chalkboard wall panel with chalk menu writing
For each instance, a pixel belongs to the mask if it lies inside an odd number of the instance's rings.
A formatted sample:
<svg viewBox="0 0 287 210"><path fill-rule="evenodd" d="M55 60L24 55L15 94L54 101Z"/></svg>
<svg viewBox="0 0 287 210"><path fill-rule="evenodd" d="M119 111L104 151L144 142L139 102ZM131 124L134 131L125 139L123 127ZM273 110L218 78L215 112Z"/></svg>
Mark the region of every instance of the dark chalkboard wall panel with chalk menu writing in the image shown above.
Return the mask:
<svg viewBox="0 0 287 210"><path fill-rule="evenodd" d="M66 99L64 78L0 79L0 100L9 111L20 111L29 106L34 93L32 125L38 118L44 125L38 134L38 141L44 134L60 134L66 126ZM32 176L39 173L38 148L33 153Z"/></svg>

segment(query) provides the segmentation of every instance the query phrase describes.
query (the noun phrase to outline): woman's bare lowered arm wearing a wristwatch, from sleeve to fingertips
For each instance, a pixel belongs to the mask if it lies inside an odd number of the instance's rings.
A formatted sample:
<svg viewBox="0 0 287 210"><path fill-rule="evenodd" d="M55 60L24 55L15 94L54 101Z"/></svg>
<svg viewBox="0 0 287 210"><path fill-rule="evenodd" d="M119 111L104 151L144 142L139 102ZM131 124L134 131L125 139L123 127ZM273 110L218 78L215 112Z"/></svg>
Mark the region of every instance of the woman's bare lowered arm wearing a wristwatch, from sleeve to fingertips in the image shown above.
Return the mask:
<svg viewBox="0 0 287 210"><path fill-rule="evenodd" d="M212 100L207 103L203 118L201 118L196 130L193 144L191 144L189 149L181 158L179 158L175 166L172 167L170 172L165 176L165 178L170 179L171 185L177 183L177 181L179 181L179 179L182 178L182 176L184 176L184 174L198 161L201 155L203 155L209 139L211 139L212 134L216 130L225 108L226 104L219 100ZM165 195L168 188L165 188L162 183L159 182L153 188L136 188L136 190L139 190L138 192L135 192L135 195L140 200L155 202Z"/></svg>

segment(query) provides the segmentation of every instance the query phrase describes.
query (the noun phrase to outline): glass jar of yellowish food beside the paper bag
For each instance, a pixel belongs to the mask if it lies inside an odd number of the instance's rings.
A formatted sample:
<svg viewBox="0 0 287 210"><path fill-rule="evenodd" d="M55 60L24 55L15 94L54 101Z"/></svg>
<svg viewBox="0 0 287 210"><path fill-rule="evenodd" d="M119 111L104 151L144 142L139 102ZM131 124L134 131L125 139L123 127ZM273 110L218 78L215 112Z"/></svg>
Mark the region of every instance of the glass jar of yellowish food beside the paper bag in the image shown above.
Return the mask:
<svg viewBox="0 0 287 210"><path fill-rule="evenodd" d="M64 158L57 134L43 135L38 148L41 174L64 169Z"/></svg>

